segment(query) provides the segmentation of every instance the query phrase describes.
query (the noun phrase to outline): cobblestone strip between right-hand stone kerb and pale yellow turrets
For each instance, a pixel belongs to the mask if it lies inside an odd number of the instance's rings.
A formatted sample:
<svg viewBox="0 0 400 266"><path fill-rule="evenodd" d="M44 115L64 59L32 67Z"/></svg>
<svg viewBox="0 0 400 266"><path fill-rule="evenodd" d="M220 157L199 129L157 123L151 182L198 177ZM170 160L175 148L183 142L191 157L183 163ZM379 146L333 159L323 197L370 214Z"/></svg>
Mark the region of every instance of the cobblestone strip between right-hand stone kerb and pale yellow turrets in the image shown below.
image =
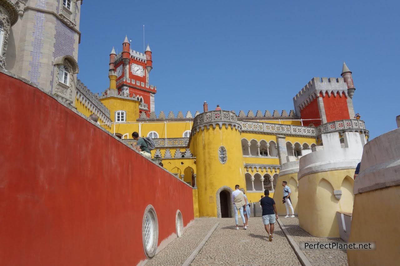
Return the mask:
<svg viewBox="0 0 400 266"><path fill-rule="evenodd" d="M321 238L314 237L300 228L298 218L279 218L285 225L294 241L300 246L300 242L335 242L343 240L341 238ZM348 265L347 253L342 250L303 250L304 255L314 266Z"/></svg>

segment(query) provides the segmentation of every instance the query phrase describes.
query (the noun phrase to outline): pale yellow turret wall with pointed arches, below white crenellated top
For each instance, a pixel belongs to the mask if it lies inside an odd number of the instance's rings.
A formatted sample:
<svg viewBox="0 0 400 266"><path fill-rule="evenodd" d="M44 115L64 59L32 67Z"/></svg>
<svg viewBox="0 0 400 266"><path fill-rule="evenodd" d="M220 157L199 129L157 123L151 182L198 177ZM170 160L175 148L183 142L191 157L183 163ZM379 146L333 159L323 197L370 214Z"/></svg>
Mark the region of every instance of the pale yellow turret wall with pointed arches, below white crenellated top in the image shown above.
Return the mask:
<svg viewBox="0 0 400 266"><path fill-rule="evenodd" d="M354 169L344 169L302 177L298 181L300 227L313 236L340 237L336 211L352 212L353 175ZM342 190L340 200L334 196L334 190Z"/></svg>

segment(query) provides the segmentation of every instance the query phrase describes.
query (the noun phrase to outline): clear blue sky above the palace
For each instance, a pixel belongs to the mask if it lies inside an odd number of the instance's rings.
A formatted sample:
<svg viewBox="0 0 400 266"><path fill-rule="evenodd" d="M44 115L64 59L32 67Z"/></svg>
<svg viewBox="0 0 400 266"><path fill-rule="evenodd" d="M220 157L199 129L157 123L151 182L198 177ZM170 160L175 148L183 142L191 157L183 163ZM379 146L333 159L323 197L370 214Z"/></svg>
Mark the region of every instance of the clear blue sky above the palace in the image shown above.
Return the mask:
<svg viewBox="0 0 400 266"><path fill-rule="evenodd" d="M204 100L236 113L289 111L312 77L340 77L346 61L370 139L396 128L398 2L92 2L82 5L78 78L93 92L109 86L109 54L126 34L143 51L145 25L157 115L201 111Z"/></svg>

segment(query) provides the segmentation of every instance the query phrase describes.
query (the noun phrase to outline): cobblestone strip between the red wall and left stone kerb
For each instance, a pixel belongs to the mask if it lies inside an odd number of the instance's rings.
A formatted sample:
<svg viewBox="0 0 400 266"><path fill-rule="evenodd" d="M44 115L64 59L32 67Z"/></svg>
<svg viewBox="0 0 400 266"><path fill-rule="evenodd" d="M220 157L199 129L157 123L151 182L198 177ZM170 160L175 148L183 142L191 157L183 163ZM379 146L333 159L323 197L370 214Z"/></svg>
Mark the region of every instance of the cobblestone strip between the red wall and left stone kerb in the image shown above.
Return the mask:
<svg viewBox="0 0 400 266"><path fill-rule="evenodd" d="M217 218L194 219L194 223L184 232L182 237L176 238L154 258L148 260L146 266L182 265L217 222Z"/></svg>

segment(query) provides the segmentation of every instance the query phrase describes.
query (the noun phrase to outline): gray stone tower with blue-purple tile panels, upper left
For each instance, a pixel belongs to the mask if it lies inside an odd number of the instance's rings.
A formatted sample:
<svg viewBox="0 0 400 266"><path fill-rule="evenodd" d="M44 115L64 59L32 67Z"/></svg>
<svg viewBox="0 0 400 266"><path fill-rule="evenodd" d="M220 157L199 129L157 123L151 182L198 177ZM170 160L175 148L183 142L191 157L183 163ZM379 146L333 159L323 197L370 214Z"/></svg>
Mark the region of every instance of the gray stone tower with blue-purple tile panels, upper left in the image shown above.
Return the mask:
<svg viewBox="0 0 400 266"><path fill-rule="evenodd" d="M13 0L6 69L70 103L75 99L83 0Z"/></svg>

